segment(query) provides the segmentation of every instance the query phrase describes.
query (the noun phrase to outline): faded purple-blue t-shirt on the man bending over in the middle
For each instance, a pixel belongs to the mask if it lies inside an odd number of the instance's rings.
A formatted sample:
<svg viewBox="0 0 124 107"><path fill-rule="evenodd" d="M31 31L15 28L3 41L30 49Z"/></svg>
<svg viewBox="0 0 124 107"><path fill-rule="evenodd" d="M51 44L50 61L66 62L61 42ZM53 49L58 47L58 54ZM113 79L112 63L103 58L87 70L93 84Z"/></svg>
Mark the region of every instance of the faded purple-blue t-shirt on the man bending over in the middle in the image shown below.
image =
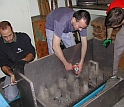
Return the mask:
<svg viewBox="0 0 124 107"><path fill-rule="evenodd" d="M71 24L74 10L67 7L60 7L53 10L46 18L46 29L54 31L61 38L62 33L74 32L75 29ZM86 29L79 31L80 36L87 36Z"/></svg>

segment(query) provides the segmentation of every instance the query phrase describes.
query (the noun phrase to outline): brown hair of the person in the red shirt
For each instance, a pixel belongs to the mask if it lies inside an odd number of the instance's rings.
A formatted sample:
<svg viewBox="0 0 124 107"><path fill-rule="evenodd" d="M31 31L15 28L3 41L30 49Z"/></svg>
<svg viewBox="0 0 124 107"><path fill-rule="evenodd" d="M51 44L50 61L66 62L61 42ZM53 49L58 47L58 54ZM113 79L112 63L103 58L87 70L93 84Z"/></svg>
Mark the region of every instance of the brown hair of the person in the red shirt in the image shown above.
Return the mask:
<svg viewBox="0 0 124 107"><path fill-rule="evenodd" d="M122 8L116 7L111 9L105 19L106 27L118 26L122 23L124 19L124 10Z"/></svg>

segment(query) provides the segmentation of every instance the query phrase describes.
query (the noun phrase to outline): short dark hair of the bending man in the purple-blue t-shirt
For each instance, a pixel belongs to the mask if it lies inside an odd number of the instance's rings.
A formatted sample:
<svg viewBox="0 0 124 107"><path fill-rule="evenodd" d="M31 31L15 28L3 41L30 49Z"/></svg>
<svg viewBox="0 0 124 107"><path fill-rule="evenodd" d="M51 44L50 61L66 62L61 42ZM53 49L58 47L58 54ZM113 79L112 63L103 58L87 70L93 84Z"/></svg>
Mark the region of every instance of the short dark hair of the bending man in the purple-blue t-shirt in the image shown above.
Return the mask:
<svg viewBox="0 0 124 107"><path fill-rule="evenodd" d="M86 10L79 10L79 11L76 11L74 14L73 14L73 17L76 18L77 21L81 20L81 19L84 19L86 21L86 24L89 25L90 23L90 13L87 12Z"/></svg>

